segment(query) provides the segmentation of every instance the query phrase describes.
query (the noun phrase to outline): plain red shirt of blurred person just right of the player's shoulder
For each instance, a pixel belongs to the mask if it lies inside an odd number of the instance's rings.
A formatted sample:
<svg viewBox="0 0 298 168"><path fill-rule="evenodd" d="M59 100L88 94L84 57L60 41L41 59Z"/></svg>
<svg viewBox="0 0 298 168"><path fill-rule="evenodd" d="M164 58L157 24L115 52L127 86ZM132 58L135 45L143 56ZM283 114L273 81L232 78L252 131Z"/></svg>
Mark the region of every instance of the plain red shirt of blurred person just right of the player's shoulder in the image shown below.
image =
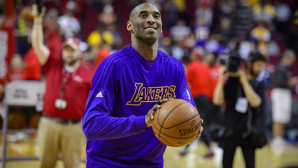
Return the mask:
<svg viewBox="0 0 298 168"><path fill-rule="evenodd" d="M206 95L209 99L212 81L209 66L203 62L194 61L187 65L187 83L189 84L192 96Z"/></svg>

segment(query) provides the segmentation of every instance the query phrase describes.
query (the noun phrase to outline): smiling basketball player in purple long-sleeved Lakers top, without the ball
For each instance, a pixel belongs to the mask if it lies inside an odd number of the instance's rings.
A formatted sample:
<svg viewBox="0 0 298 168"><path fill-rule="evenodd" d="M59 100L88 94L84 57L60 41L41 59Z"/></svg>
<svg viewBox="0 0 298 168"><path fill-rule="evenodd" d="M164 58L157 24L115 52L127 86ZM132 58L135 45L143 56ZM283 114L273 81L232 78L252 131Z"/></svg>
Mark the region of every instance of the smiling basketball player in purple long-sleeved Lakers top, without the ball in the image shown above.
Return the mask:
<svg viewBox="0 0 298 168"><path fill-rule="evenodd" d="M151 127L156 102L176 98L194 105L182 63L158 50L158 9L136 6L127 29L132 44L104 59L92 80L82 125L86 167L163 167L166 146Z"/></svg>

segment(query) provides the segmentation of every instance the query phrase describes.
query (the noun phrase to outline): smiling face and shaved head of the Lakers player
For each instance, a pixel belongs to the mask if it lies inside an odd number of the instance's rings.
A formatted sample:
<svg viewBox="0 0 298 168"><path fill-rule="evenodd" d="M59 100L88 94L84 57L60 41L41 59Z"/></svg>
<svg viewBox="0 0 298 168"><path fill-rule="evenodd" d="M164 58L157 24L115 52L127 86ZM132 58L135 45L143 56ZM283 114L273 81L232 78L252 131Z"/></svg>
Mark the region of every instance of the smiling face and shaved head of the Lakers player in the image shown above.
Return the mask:
<svg viewBox="0 0 298 168"><path fill-rule="evenodd" d="M148 3L141 4L136 9L133 19L128 21L127 29L134 38L153 45L162 32L160 13L155 6Z"/></svg>

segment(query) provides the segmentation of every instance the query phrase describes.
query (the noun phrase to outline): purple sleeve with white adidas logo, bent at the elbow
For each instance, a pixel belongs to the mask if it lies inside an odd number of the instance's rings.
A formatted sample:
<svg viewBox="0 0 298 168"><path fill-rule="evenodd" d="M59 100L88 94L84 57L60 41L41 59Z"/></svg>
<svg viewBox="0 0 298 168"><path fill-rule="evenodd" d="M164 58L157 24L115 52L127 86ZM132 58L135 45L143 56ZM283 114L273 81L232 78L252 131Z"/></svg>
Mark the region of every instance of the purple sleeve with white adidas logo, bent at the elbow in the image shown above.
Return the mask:
<svg viewBox="0 0 298 168"><path fill-rule="evenodd" d="M82 129L87 140L120 139L147 131L145 116L111 117L116 88L115 66L104 61L94 74L83 116Z"/></svg>

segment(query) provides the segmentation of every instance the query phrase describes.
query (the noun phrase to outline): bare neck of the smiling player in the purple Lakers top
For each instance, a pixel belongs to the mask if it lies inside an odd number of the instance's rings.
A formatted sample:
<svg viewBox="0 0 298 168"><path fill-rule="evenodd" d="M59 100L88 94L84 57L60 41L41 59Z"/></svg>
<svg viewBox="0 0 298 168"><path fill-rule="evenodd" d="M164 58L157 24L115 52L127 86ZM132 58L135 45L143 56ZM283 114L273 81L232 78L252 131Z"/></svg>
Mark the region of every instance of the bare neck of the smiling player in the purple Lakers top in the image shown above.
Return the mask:
<svg viewBox="0 0 298 168"><path fill-rule="evenodd" d="M132 46L133 48L142 55L149 62L153 62L157 56L158 49L158 41L156 41L152 45L148 45L146 43L141 42L139 39L132 38Z"/></svg>

